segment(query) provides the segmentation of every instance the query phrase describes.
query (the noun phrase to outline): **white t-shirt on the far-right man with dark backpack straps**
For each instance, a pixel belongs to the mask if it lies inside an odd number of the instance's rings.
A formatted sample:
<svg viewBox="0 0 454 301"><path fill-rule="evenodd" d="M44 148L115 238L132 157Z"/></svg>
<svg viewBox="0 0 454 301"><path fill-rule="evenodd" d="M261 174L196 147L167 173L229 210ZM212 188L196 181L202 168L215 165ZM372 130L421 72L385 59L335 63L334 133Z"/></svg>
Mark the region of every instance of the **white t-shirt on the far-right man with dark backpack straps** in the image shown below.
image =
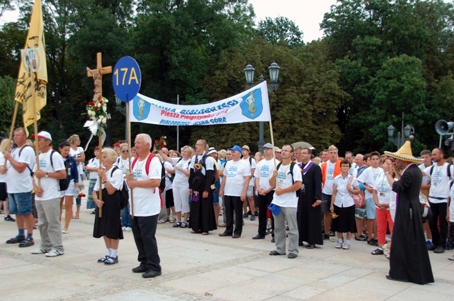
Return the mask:
<svg viewBox="0 0 454 301"><path fill-rule="evenodd" d="M433 165L434 169L432 175L430 175L430 169L432 167L427 167L424 169L426 176L430 177L430 190L429 190L429 201L432 203L447 203L449 196L449 181L448 178L448 163L444 163L443 166L439 167ZM451 178L454 176L454 165L451 165ZM434 197L442 199L434 199Z"/></svg>

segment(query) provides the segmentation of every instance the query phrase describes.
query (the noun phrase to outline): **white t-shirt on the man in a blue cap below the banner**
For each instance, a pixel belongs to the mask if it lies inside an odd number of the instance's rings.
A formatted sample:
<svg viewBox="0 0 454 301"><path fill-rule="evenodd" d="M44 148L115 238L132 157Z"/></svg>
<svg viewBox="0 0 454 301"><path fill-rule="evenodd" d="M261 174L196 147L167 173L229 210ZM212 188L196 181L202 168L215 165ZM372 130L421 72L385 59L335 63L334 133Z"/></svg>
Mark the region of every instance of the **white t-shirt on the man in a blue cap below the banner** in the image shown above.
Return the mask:
<svg viewBox="0 0 454 301"><path fill-rule="evenodd" d="M227 196L241 196L244 189L244 177L251 176L251 169L249 162L244 160L227 162L224 168L224 194Z"/></svg>

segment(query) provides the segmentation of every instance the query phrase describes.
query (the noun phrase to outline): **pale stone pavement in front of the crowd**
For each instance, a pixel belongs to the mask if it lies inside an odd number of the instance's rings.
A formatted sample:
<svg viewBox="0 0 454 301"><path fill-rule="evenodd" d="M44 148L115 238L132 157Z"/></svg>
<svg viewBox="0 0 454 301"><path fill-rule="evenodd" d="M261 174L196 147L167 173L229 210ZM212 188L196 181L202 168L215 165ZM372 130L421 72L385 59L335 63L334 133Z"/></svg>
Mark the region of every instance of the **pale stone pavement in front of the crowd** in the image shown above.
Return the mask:
<svg viewBox="0 0 454 301"><path fill-rule="evenodd" d="M85 202L82 203L85 208ZM252 240L258 222L247 219L242 237L191 234L159 224L157 240L163 275L143 279L132 232L124 233L119 263L97 263L103 240L92 237L94 215L82 210L64 234L64 256L32 255L39 246L19 248L13 222L0 220L0 300L449 300L454 298L454 254L430 252L435 283L420 286L385 278L388 260L372 256L365 242L335 249L335 239L316 249L300 248L295 259L269 256L270 236ZM3 217L3 215L0 215ZM453 299L451 299L453 300Z"/></svg>

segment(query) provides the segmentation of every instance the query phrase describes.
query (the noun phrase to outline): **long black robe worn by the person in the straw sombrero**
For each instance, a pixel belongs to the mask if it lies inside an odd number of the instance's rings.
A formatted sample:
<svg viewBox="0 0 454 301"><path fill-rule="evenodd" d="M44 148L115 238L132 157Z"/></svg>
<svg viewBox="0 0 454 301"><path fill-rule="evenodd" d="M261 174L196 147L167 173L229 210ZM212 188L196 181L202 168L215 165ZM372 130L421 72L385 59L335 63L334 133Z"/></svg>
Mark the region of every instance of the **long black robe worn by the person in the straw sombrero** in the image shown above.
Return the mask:
<svg viewBox="0 0 454 301"><path fill-rule="evenodd" d="M397 192L389 275L416 284L434 282L421 221L419 192L423 174L416 164L393 184Z"/></svg>

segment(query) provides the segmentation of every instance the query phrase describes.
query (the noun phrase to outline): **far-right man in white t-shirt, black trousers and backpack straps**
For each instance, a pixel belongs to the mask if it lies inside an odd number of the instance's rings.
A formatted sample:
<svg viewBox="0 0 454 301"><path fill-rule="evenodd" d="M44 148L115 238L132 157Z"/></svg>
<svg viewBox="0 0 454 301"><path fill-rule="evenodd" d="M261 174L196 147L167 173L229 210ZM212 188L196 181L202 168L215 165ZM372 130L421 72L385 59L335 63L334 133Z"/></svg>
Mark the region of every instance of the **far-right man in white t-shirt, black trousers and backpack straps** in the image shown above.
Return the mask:
<svg viewBox="0 0 454 301"><path fill-rule="evenodd" d="M454 168L445 160L444 150L434 148L432 150L432 167L423 171L423 176L430 177L429 204L432 217L429 219L430 231L432 232L432 245L427 247L434 253L444 253L446 238L448 237L448 210L449 181L453 179ZM438 226L439 224L439 226Z"/></svg>

